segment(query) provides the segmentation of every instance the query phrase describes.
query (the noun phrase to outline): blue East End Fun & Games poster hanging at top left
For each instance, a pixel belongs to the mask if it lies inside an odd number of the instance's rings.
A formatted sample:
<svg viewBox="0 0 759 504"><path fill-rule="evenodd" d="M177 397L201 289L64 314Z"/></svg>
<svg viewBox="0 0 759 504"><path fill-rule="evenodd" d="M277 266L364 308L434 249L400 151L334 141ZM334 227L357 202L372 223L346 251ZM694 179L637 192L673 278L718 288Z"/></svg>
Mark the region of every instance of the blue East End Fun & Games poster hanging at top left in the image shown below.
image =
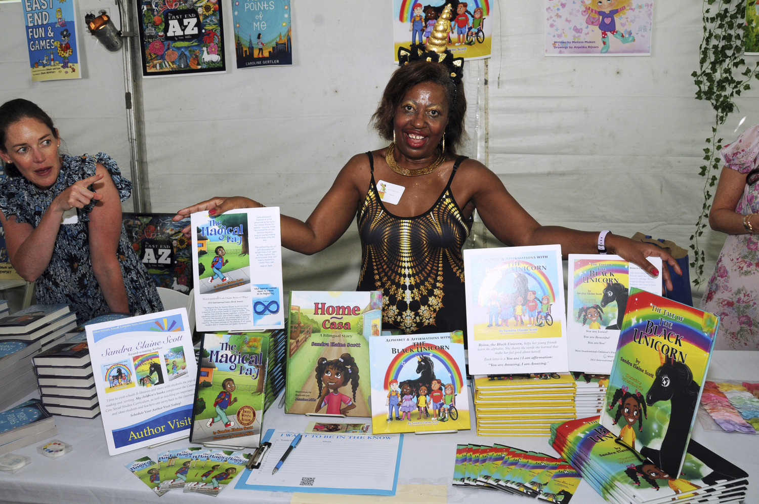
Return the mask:
<svg viewBox="0 0 759 504"><path fill-rule="evenodd" d="M32 81L78 79L74 0L22 0Z"/></svg>

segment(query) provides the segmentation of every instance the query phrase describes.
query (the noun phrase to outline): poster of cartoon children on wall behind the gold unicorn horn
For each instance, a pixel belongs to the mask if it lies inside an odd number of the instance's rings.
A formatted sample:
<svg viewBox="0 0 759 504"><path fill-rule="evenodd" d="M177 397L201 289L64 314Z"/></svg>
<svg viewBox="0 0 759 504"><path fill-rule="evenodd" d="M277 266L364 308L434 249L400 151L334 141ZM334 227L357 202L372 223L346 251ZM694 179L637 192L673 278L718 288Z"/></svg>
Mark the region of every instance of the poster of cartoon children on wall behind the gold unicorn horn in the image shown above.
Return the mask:
<svg viewBox="0 0 759 504"><path fill-rule="evenodd" d="M451 5L449 19L442 19L446 5ZM409 48L412 43L429 42L436 22L448 33L448 46L456 58L490 58L494 19L491 0L393 0L392 2L392 54L398 61L398 48Z"/></svg>

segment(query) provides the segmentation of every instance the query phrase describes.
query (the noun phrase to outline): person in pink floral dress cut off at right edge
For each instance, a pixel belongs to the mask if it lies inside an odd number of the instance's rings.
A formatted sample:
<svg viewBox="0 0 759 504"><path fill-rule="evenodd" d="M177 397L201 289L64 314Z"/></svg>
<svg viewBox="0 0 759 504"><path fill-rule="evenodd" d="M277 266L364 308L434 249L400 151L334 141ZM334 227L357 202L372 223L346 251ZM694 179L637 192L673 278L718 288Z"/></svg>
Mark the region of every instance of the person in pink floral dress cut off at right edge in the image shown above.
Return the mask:
<svg viewBox="0 0 759 504"><path fill-rule="evenodd" d="M759 124L720 152L709 224L729 236L701 309L720 317L716 350L759 350Z"/></svg>

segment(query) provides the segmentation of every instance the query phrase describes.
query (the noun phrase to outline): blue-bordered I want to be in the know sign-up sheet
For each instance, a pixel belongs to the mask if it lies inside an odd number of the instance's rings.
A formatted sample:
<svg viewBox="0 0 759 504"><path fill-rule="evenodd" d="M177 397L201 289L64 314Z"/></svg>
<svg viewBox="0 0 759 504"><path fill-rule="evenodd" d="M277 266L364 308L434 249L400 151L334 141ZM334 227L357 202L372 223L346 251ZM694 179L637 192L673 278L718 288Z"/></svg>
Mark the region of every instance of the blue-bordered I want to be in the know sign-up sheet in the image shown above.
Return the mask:
<svg viewBox="0 0 759 504"><path fill-rule="evenodd" d="M262 442L272 443L260 468L246 469L235 488L279 492L395 495L403 434L372 436L348 433L301 433L298 449L272 474L298 433L269 429ZM340 460L351 475L324 460ZM361 487L357 487L361 482Z"/></svg>

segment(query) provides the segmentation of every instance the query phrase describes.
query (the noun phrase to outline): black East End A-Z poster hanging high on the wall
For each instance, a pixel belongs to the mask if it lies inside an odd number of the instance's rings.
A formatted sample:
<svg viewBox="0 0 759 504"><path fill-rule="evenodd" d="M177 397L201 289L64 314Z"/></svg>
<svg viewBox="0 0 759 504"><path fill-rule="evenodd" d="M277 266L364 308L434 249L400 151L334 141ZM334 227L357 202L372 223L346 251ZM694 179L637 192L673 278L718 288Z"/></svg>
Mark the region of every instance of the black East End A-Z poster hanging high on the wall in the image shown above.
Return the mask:
<svg viewBox="0 0 759 504"><path fill-rule="evenodd" d="M140 0L143 77L226 71L222 2Z"/></svg>

